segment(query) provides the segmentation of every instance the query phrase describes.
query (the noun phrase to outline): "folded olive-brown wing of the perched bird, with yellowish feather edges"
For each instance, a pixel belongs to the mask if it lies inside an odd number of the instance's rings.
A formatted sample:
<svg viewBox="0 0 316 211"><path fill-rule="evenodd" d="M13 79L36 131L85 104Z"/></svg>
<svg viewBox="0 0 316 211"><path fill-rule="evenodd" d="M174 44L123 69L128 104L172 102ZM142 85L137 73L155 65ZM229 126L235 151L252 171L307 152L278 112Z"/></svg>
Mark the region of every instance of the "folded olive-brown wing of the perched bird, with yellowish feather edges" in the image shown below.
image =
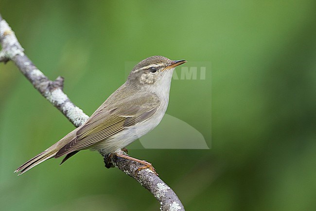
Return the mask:
<svg viewBox="0 0 316 211"><path fill-rule="evenodd" d="M136 98L127 97L111 108L101 106L55 157L88 149L127 127L145 121L156 113L159 104L158 97L150 94Z"/></svg>

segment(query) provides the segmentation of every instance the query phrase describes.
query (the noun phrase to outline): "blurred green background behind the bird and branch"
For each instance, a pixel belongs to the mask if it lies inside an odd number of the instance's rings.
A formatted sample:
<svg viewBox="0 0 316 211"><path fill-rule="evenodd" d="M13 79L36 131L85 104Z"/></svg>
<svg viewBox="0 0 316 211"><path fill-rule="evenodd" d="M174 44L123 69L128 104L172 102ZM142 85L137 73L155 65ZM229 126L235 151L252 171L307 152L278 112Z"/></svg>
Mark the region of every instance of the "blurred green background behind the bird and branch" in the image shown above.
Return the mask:
<svg viewBox="0 0 316 211"><path fill-rule="evenodd" d="M65 77L88 115L123 84L126 62L211 63L205 80L173 81L167 110L211 149L129 151L188 211L315 210L315 11L315 0L0 0L27 56L50 79ZM73 129L12 62L0 64L1 211L159 209L95 152L13 173Z"/></svg>

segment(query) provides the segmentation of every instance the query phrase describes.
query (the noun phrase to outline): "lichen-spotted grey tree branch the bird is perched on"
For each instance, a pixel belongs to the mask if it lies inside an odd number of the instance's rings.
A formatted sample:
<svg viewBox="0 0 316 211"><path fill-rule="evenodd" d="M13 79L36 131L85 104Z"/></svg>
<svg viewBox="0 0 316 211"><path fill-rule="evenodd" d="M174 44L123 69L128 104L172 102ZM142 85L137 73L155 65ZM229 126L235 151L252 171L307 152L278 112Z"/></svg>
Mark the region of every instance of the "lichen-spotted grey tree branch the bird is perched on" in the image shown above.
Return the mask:
<svg viewBox="0 0 316 211"><path fill-rule="evenodd" d="M24 54L24 49L15 33L1 15L0 43L2 46L0 62L13 61L34 88L63 113L75 127L79 127L88 119L88 115L75 106L63 92L64 78L57 77L54 81L48 79ZM176 193L155 173L149 169L137 171L141 167L140 163L111 154L105 156L105 165L106 167L115 166L148 189L160 202L161 211L184 211Z"/></svg>

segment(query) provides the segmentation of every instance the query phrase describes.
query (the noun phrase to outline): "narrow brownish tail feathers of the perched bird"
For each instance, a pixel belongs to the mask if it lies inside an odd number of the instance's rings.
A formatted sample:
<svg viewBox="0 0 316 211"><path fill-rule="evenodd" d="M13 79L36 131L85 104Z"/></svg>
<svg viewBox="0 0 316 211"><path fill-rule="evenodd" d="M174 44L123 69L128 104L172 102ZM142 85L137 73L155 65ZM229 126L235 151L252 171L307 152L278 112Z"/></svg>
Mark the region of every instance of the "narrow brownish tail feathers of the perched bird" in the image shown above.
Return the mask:
<svg viewBox="0 0 316 211"><path fill-rule="evenodd" d="M28 170L35 167L36 165L40 164L41 162L52 158L56 153L57 153L57 151L50 150L50 148L49 148L49 149L45 150L44 152L36 155L32 159L30 159L29 161L24 163L22 166L18 167L18 169L15 171L15 173L19 173L18 175L25 173Z"/></svg>

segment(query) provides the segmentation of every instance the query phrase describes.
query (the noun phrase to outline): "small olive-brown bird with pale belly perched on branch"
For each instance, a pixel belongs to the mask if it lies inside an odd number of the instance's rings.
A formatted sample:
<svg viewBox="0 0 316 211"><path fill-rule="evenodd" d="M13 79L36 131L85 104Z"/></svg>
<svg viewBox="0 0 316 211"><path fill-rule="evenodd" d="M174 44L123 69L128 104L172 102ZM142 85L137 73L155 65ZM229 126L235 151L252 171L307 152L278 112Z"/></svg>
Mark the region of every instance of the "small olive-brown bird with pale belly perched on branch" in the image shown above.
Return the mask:
<svg viewBox="0 0 316 211"><path fill-rule="evenodd" d="M119 87L81 126L71 131L47 150L18 167L18 175L50 158L64 156L61 164L81 150L98 151L103 156L116 154L143 164L122 151L133 141L153 130L164 116L176 66L186 60L153 56L140 61ZM156 172L155 172L156 173Z"/></svg>

